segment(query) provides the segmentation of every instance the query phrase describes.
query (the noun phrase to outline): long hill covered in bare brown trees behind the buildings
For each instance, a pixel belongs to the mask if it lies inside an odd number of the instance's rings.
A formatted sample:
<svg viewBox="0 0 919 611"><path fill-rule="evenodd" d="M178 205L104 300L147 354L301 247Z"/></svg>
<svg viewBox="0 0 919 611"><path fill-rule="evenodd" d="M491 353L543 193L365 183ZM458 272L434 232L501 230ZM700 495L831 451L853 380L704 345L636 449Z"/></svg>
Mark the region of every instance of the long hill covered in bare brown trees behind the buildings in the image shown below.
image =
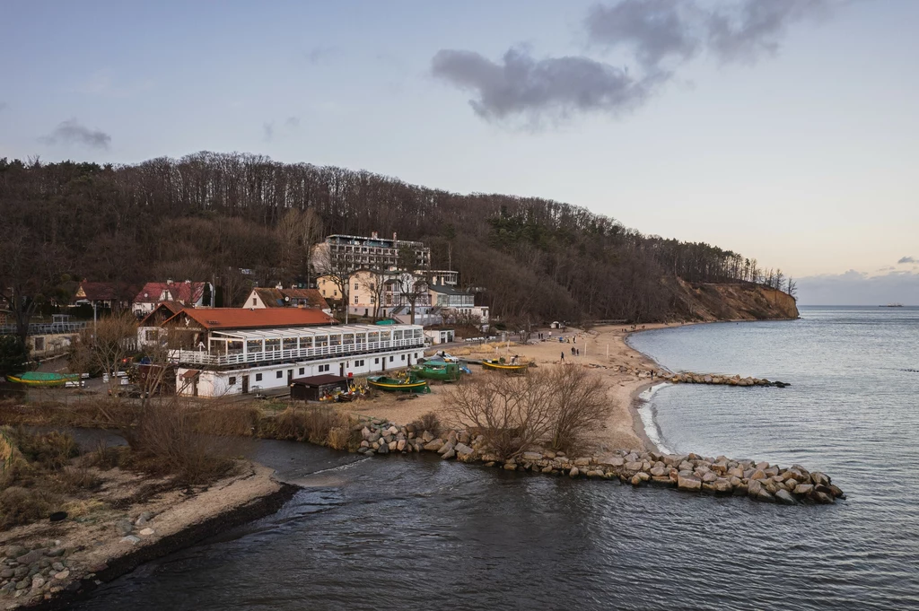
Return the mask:
<svg viewBox="0 0 919 611"><path fill-rule="evenodd" d="M396 178L241 153L136 165L0 160L0 287L48 296L62 278L216 278L224 305L307 276L327 233L397 232L431 247L434 268L482 289L514 321L683 318L674 282L762 283L781 273L706 243L647 236L541 198L459 195ZM4 289L6 290L6 289Z"/></svg>

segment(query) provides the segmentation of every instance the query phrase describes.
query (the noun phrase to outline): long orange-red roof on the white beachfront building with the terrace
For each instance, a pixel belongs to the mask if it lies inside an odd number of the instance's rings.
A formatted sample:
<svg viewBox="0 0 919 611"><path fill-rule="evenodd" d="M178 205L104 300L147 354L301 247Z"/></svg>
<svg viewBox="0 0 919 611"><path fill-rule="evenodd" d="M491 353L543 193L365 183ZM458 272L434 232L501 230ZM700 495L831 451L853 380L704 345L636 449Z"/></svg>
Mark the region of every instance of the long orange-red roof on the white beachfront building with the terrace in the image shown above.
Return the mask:
<svg viewBox="0 0 919 611"><path fill-rule="evenodd" d="M183 317L198 322L209 331L217 329L262 329L274 327L309 327L335 324L334 318L313 308L193 308L178 312L164 322L178 322Z"/></svg>

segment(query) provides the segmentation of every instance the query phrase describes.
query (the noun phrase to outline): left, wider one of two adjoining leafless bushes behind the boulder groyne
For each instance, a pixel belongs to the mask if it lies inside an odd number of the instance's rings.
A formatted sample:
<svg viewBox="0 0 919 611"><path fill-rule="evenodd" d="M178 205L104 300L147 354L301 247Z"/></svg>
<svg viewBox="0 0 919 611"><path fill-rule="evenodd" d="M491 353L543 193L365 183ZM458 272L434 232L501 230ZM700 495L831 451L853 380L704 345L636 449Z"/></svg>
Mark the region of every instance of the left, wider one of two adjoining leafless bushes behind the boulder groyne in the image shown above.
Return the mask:
<svg viewBox="0 0 919 611"><path fill-rule="evenodd" d="M482 375L449 390L444 401L457 424L475 429L501 458L535 445L552 424L551 387L543 376Z"/></svg>

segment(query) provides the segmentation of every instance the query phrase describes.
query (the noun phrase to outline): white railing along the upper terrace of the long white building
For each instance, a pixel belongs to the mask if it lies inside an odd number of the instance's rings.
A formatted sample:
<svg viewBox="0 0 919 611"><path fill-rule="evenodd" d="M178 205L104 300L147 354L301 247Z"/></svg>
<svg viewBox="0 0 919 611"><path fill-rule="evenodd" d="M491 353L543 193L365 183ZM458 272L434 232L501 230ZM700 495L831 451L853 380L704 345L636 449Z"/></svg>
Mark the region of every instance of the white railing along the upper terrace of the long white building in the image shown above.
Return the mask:
<svg viewBox="0 0 919 611"><path fill-rule="evenodd" d="M174 363L189 365L215 365L218 367L244 365L246 363L265 363L270 361L308 360L327 356L366 355L395 348L423 348L425 339L390 340L388 342L369 342L367 344L325 345L315 348L297 348L295 350L263 350L261 352L238 352L229 355L212 355L204 350L172 350L169 359Z"/></svg>

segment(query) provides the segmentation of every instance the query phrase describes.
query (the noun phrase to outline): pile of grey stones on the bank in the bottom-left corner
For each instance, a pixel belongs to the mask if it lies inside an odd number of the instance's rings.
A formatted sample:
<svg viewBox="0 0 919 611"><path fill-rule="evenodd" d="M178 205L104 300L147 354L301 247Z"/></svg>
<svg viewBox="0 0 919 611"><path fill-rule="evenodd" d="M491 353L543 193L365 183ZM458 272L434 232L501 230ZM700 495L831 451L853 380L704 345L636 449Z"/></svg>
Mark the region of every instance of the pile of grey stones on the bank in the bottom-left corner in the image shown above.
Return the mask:
<svg viewBox="0 0 919 611"><path fill-rule="evenodd" d="M69 560L73 550L62 548L61 541L47 541L32 549L11 546L0 561L0 595L50 600L73 582L71 574L79 564Z"/></svg>

